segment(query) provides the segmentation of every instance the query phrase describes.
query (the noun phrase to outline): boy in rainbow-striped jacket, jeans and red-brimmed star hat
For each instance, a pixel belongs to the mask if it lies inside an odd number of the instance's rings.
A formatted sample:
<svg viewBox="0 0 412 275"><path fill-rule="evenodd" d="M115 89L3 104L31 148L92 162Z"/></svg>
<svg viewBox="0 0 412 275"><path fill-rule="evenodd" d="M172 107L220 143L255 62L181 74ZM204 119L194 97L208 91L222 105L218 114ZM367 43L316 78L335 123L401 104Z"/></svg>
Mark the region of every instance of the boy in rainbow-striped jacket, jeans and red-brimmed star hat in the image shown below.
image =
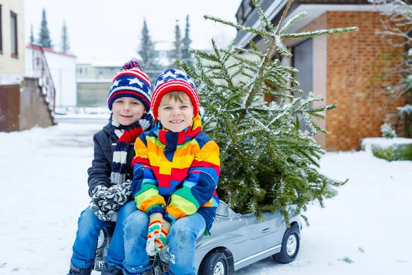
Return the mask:
<svg viewBox="0 0 412 275"><path fill-rule="evenodd" d="M124 225L123 272L151 274L149 256L169 245L168 274L195 274L196 239L209 235L219 203L219 147L202 131L198 94L184 72L157 78L151 109L155 124L135 142L138 210Z"/></svg>

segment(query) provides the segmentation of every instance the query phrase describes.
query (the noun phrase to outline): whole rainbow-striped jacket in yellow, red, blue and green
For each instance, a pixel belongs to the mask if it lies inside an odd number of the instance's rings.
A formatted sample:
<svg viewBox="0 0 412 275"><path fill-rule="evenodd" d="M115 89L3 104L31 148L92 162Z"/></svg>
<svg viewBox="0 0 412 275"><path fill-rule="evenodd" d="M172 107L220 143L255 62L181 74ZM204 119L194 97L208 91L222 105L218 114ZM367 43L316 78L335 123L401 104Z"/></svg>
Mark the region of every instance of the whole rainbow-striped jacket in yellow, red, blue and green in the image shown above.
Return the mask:
<svg viewBox="0 0 412 275"><path fill-rule="evenodd" d="M171 224L198 212L209 234L219 204L218 144L203 133L199 115L185 131L160 129L155 123L135 142L132 194L137 208L149 216L160 212Z"/></svg>

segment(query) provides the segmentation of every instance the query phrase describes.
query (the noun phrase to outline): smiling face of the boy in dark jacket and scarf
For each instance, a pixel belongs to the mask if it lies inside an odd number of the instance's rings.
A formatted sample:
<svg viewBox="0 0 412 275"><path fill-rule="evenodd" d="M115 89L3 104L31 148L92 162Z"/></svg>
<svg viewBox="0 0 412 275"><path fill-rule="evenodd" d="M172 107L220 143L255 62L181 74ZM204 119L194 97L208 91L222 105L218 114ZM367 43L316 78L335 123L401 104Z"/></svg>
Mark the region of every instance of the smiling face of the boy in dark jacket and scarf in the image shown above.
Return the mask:
<svg viewBox="0 0 412 275"><path fill-rule="evenodd" d="M144 104L135 98L117 98L113 102L112 113L117 122L124 126L130 126L146 113Z"/></svg>

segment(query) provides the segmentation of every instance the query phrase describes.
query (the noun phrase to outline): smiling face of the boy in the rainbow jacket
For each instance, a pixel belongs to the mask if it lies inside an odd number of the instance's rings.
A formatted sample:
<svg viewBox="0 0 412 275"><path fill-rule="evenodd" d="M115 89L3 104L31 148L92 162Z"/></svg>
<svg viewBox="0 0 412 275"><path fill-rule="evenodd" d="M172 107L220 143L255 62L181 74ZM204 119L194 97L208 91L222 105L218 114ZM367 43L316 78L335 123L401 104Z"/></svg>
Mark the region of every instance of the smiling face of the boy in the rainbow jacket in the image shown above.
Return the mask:
<svg viewBox="0 0 412 275"><path fill-rule="evenodd" d="M157 120L165 129L172 132L181 132L192 123L194 117L193 105L189 96L185 96L183 102L170 98L166 101L160 100L157 110Z"/></svg>

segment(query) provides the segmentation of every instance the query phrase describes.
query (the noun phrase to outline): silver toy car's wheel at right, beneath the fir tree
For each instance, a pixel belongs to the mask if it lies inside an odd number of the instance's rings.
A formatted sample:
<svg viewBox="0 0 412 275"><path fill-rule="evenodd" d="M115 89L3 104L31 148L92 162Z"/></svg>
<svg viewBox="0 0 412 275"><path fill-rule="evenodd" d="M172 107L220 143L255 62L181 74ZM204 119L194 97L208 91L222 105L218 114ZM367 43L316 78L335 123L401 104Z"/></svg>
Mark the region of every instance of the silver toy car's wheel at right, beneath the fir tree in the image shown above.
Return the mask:
<svg viewBox="0 0 412 275"><path fill-rule="evenodd" d="M279 253L273 255L273 259L278 263L293 262L296 259L299 248L299 228L297 224L294 224L286 230L282 240L282 248Z"/></svg>

